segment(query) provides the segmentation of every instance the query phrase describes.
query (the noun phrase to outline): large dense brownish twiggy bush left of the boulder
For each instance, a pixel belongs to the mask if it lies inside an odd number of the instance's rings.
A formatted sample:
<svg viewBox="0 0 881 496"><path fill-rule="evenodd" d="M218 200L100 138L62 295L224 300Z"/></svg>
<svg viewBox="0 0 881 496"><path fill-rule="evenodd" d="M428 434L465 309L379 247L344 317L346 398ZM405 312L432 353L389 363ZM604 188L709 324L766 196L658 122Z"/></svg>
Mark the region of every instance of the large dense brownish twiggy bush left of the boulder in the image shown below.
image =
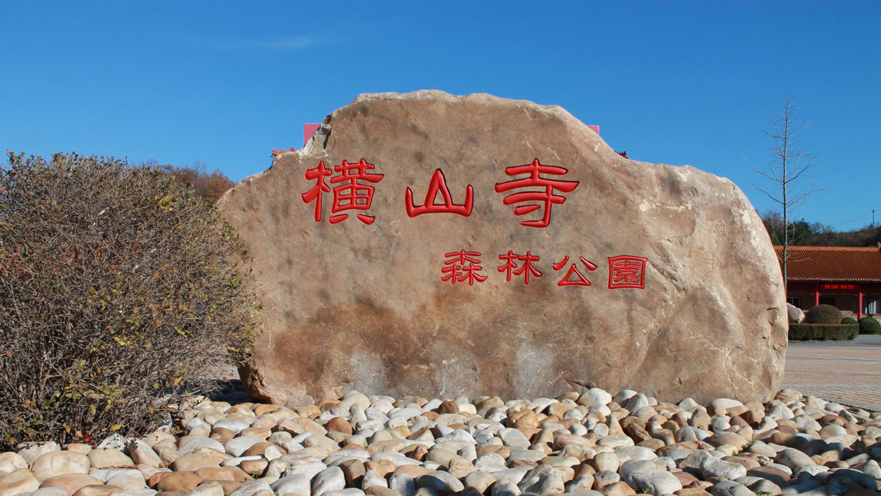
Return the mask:
<svg viewBox="0 0 881 496"><path fill-rule="evenodd" d="M0 448L138 435L248 359L254 293L219 211L158 168L0 167Z"/></svg>

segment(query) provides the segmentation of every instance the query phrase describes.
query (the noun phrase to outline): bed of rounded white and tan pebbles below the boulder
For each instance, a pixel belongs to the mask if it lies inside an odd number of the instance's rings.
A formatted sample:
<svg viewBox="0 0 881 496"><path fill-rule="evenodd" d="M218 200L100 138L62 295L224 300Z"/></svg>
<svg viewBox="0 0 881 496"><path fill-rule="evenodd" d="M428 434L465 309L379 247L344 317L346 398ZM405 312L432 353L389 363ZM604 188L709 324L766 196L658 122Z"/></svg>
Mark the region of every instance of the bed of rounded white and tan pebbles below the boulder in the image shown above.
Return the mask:
<svg viewBox="0 0 881 496"><path fill-rule="evenodd" d="M782 389L767 403L631 390L503 400L365 396L298 408L233 390L96 447L0 454L0 496L878 494L881 412Z"/></svg>

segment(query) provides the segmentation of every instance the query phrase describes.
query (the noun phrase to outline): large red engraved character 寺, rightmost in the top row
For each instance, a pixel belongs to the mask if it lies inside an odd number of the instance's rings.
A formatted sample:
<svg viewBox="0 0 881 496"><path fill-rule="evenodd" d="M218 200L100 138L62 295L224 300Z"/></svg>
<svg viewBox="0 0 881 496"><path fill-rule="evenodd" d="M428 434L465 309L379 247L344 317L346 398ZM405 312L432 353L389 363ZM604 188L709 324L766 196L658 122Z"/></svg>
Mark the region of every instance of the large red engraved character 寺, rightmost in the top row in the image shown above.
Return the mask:
<svg viewBox="0 0 881 496"><path fill-rule="evenodd" d="M579 181L563 181L559 179L547 179L541 177L541 174L566 175L569 172L564 167L544 166L538 159L533 159L531 164L522 166L505 167L505 174L515 176L518 174L529 174L528 177L520 179L512 179L511 181L497 182L495 184L496 193L504 193L511 189L521 188L541 188L541 190L527 190L518 193L512 193L502 200L506 205L522 204L529 202L538 202L538 204L518 205L514 207L516 216L526 215L530 212L537 211L544 206L542 218L534 220L522 220L521 226L529 227L547 227L551 223L551 205L563 204L566 202L566 196L556 195L554 191L563 193L572 193Z"/></svg>

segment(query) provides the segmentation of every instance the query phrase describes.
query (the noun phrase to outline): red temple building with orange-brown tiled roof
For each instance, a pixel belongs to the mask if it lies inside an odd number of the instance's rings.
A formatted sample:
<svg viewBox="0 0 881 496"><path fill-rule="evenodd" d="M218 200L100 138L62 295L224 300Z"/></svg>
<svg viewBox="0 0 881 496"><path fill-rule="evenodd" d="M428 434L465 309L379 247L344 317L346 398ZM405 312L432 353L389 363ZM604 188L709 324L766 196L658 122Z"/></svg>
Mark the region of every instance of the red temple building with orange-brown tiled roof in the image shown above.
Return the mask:
<svg viewBox="0 0 881 496"><path fill-rule="evenodd" d="M783 259L783 247L774 247ZM881 244L871 248L787 249L786 300L807 310L833 305L845 316L881 316Z"/></svg>

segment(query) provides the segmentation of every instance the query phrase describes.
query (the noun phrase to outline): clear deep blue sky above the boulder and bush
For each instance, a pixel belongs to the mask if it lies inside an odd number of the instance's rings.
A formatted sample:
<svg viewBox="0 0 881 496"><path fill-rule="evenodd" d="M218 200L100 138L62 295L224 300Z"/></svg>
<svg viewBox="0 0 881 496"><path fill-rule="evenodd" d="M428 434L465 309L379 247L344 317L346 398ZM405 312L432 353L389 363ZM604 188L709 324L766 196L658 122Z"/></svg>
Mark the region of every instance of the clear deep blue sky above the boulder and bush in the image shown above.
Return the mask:
<svg viewBox="0 0 881 496"><path fill-rule="evenodd" d="M559 105L633 159L728 177L787 94L818 153L798 218L881 223L881 2L9 2L0 150L219 168L300 147L359 93Z"/></svg>

